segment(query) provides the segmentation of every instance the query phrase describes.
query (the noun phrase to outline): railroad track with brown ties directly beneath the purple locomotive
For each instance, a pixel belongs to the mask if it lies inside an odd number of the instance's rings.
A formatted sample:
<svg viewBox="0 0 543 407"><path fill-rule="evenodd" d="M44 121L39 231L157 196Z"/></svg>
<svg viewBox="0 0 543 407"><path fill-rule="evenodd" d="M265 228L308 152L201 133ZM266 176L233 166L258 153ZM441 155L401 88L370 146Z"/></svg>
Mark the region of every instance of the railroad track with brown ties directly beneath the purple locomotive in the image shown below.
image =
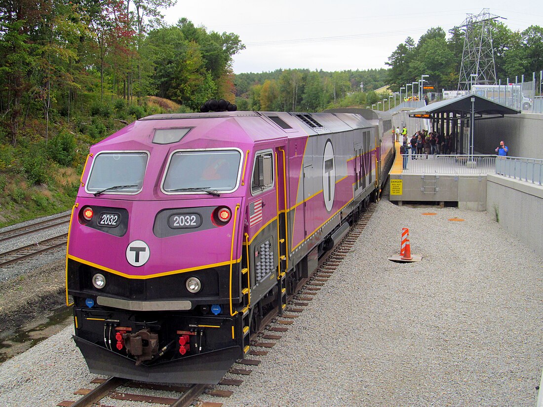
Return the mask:
<svg viewBox="0 0 543 407"><path fill-rule="evenodd" d="M263 327L259 332L251 335L251 350L250 355L253 356L266 356L269 351L258 350L255 348L271 348L276 345L276 341L281 339L279 333L285 333L288 331L288 326L294 323L294 319L304 311L304 307L307 307L313 300L313 297L317 295L318 291L323 285L326 284L330 276L336 271L342 262L342 260L351 251L352 246L356 243L358 237L364 231L364 228L368 224L371 216L377 209L377 203L370 203L367 211L364 212L361 218L353 225L349 233L343 238L342 241L334 248L334 250L325 256L319 262L319 268L310 277L302 281L296 288L296 294L288 298L288 306L283 311L283 314L278 315L274 313L264 317L261 326ZM279 325L279 326L276 326ZM245 366L258 366L260 360L242 359L238 360L234 364L229 373L241 376L248 376L252 370L245 368ZM242 367L236 367L241 365ZM206 384L193 384L187 386L175 386L175 385L156 385L148 383L140 383L131 381L128 379L122 379L118 377L111 377L105 379L94 379L91 383L98 383L99 385L93 390L79 389L75 391L75 395L83 395L77 402L65 400L57 404L59 407L91 407L96 405L104 397L110 397L117 400L129 400L132 402L147 402L161 405L169 405L170 407L188 407L192 405L196 400L199 400L200 396L204 393L214 397L230 397L232 391L230 390L217 390L213 385ZM222 386L240 386L243 380L237 379L224 379L219 382ZM117 387L132 387L137 389L148 389L151 391L172 391L180 393L178 398L159 397L152 395L138 395L128 392L116 391ZM198 402L198 407L221 407L223 404L220 402Z"/></svg>

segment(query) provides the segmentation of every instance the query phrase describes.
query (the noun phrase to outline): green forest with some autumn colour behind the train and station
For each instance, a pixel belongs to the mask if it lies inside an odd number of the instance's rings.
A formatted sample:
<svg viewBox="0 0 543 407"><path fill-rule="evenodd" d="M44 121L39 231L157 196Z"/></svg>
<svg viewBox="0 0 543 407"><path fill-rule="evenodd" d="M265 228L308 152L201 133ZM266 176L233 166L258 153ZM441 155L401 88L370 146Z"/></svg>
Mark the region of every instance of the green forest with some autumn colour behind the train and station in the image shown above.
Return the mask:
<svg viewBox="0 0 543 407"><path fill-rule="evenodd" d="M235 33L168 25L175 0L0 0L0 226L69 209L96 143L143 116L226 99L238 110L365 107L422 73L456 88L463 37L430 28L388 68L234 74ZM493 26L498 77L543 69L543 30ZM363 68L363 67L361 67ZM362 85L362 86L361 86Z"/></svg>

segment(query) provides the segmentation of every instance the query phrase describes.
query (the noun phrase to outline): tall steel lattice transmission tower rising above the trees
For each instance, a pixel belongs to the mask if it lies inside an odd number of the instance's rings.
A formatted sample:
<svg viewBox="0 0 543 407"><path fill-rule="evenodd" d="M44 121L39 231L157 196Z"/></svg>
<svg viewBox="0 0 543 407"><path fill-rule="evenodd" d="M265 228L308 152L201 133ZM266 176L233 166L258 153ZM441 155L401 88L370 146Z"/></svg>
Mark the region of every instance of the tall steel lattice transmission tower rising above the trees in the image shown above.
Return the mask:
<svg viewBox="0 0 543 407"><path fill-rule="evenodd" d="M479 14L468 14L463 25L464 49L458 79L458 90L469 90L470 85L496 85L496 64L492 44L491 22L501 18L489 9Z"/></svg>

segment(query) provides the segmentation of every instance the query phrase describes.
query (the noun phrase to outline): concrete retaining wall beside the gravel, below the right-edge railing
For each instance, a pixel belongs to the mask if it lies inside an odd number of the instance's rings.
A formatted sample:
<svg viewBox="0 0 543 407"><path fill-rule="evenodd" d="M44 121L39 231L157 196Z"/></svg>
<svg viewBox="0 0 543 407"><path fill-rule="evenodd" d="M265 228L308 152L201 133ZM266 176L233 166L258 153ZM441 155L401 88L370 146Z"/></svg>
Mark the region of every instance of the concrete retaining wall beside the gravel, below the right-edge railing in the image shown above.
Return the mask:
<svg viewBox="0 0 543 407"><path fill-rule="evenodd" d="M488 214L543 256L543 186L488 174L486 195Z"/></svg>

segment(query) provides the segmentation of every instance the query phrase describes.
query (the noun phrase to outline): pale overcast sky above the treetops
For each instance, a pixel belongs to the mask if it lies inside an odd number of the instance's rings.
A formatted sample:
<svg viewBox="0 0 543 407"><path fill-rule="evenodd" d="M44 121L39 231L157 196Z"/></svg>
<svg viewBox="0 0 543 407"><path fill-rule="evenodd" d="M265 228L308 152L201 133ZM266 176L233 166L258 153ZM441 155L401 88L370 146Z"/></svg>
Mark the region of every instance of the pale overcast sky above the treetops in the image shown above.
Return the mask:
<svg viewBox="0 0 543 407"><path fill-rule="evenodd" d="M488 2L490 3L490 2ZM536 0L178 0L164 12L175 24L187 17L195 26L239 35L245 49L236 54L235 73L308 68L324 71L384 68L407 36L415 43L428 28L460 26L466 14L483 8L512 30L543 26ZM512 8L514 7L514 8Z"/></svg>

